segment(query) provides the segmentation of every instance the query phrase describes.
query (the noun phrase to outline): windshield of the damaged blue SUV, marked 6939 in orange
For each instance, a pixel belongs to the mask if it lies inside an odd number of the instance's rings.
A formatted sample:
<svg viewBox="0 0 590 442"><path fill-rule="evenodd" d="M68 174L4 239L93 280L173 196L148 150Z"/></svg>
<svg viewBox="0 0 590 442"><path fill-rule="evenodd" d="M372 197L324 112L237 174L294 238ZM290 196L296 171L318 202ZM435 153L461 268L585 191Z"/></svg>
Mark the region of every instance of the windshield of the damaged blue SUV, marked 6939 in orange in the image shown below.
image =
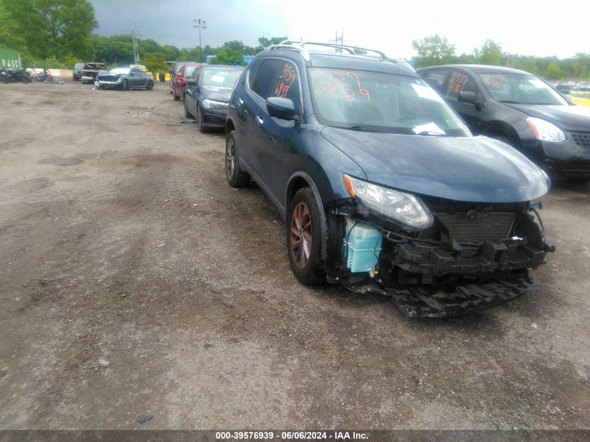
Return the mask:
<svg viewBox="0 0 590 442"><path fill-rule="evenodd" d="M463 121L421 78L309 68L318 120L356 131L470 136Z"/></svg>

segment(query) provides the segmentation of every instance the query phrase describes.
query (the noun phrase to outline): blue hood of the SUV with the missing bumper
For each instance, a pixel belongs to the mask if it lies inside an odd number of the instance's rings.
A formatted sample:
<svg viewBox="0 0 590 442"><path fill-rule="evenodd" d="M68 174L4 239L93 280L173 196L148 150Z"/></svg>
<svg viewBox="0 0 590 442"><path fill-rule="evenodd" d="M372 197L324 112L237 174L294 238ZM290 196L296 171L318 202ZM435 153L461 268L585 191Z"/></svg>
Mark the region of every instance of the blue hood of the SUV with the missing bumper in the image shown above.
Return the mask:
<svg viewBox="0 0 590 442"><path fill-rule="evenodd" d="M376 184L469 202L521 202L543 196L545 172L501 141L357 132L326 127L323 137ZM362 178L362 177L360 177Z"/></svg>

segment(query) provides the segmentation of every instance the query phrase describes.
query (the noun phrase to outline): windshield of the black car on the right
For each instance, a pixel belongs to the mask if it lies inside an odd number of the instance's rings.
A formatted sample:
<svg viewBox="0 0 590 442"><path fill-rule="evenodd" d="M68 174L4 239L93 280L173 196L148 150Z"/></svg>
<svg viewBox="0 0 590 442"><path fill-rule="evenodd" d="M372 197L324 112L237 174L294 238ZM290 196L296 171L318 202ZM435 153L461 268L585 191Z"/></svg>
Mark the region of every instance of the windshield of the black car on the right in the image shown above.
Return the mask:
<svg viewBox="0 0 590 442"><path fill-rule="evenodd" d="M494 98L503 103L568 105L549 84L534 75L482 73L480 80Z"/></svg>

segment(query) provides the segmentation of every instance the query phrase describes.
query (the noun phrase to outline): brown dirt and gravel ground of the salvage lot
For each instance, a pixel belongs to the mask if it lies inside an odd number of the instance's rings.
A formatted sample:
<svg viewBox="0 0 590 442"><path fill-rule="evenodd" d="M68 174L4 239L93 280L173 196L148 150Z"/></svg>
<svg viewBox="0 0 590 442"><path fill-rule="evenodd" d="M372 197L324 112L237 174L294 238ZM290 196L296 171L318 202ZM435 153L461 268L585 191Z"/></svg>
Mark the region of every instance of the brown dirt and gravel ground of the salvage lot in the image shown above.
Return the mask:
<svg viewBox="0 0 590 442"><path fill-rule="evenodd" d="M545 198L536 290L410 320L297 283L278 212L167 84L0 103L0 428L589 428L589 185Z"/></svg>

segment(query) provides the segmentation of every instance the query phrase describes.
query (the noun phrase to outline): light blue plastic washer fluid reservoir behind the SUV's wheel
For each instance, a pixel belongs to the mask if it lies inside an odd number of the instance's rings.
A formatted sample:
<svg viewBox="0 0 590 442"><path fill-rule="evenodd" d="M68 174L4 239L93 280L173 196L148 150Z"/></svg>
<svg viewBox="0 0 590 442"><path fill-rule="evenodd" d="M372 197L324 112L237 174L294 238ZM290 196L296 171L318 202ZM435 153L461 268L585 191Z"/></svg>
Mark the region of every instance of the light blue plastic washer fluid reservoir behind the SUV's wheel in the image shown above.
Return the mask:
<svg viewBox="0 0 590 442"><path fill-rule="evenodd" d="M378 228L346 218L346 267L352 273L371 272L372 277L382 242L383 235Z"/></svg>

